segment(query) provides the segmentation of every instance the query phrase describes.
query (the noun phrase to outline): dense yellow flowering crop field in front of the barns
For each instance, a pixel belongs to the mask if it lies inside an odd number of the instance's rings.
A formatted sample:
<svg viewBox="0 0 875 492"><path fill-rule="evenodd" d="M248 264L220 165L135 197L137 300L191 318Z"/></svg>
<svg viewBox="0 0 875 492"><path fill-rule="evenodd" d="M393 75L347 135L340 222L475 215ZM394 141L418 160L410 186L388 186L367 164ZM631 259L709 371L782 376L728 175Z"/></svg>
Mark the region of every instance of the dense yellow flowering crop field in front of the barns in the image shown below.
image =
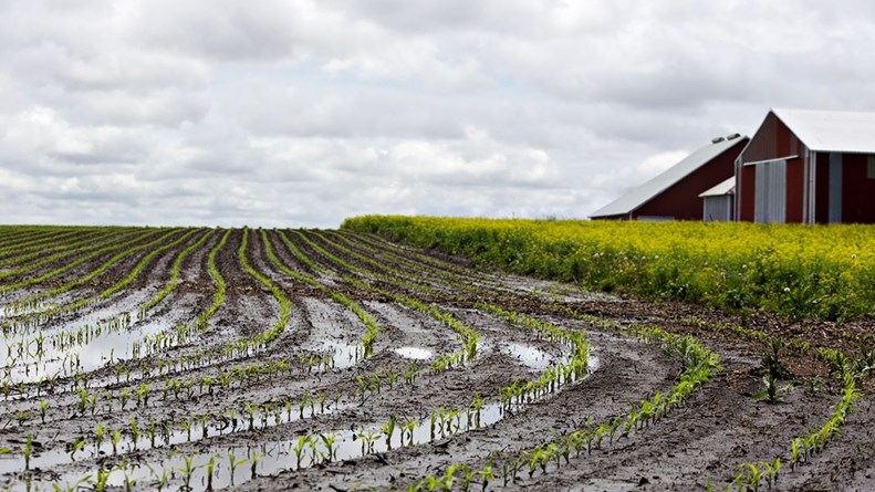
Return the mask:
<svg viewBox="0 0 875 492"><path fill-rule="evenodd" d="M649 300L837 321L875 311L871 226L364 216L342 227Z"/></svg>

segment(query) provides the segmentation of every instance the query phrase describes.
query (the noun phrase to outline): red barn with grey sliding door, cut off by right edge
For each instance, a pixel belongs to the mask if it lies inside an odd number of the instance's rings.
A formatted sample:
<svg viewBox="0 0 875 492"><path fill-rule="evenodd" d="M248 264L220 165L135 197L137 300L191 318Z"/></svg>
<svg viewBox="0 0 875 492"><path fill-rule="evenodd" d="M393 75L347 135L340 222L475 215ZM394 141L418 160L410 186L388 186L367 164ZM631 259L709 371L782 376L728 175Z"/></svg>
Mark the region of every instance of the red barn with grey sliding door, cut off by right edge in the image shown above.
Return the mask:
<svg viewBox="0 0 875 492"><path fill-rule="evenodd" d="M736 160L735 216L875 223L875 113L770 111Z"/></svg>

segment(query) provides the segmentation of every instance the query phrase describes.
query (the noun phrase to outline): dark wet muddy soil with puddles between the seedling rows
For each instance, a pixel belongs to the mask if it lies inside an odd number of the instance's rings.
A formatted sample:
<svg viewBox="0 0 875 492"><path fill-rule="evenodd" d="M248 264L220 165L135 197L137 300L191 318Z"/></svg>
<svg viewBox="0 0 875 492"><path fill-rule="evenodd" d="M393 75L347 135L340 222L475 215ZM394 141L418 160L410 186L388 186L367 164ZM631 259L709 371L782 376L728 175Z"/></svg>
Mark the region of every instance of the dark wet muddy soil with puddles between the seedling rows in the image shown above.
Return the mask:
<svg viewBox="0 0 875 492"><path fill-rule="evenodd" d="M156 306L148 322L164 323L167 329L194 325L208 310L217 291L208 273L208 253L223 232L213 233L188 257L177 289ZM98 311L136 308L168 284L176 255L198 237L156 258L125 292L84 312L53 318L41 328L54 333ZM838 326L761 313L742 317L683 304L617 299L582 292L574 285L482 272L463 259L426 254L348 232L268 231L267 238L274 259L267 254L260 231L249 231L244 249L262 281L238 259L243 232L231 232L216 257L227 284L225 300L205 326L181 342L147 356L107 359L85 375L61 374L52 389L38 388L33 381L10 389L0 399L0 449L9 451L0 454L0 486L51 489L53 483L71 484L86 475L92 483L83 485L95 486L98 470L116 467L108 485L119 490L125 480L134 479L138 490L159 485L173 490L407 490L463 463L476 471L494 464L497 477L489 480L487 490L683 491L709 485L722 490L732 485L746 462L775 457L788 462L791 441L829 420L841 389L814 349L784 348L780 356L791 374L779 383L784 388L780 400L754 397L763 389L761 354L765 347L727 327L743 324L770 336L808 342L814 348L841 349L853 358L871 341L875 324L856 320ZM72 302L112 285L143 254L147 252L125 259L91 284L52 301ZM62 279L75 280L105 260L95 258ZM274 260L315 283L289 275ZM3 302L24 299L60 281L14 291ZM267 344L230 350L229 346L243 346L281 323L280 301L265 281L290 302L288 323ZM477 356L449 370L430 370L438 358L463 350L463 341L434 312L418 310L410 301L434 306L441 316L475 331ZM414 446L406 443L407 438L398 439L400 431L396 431L397 441L388 442L392 449L381 447L385 435L378 431L389 420L416 420L426 428L429 416L449 409L461 409L461 415L470 411L475 398L487 407L498 406L501 388L538 378L567 357L565 344L487 314L478 303L583 333L593 345L591 373L525 405L485 415L491 419L487 425L470 420L462 425L459 417L455 430L431 437L425 429L426 436L418 433ZM610 442L606 439L588 452L572 453L567 461L538 468L531 475L528 463L513 477L502 472L502 457L533 450L587 422L624 416L633 405L656 392L666 394L677 384L680 364L659 347L600 329L584 315L690 334L720 356L722 370L686 405L639 430ZM369 329L365 318L378 327L367 355L360 352L360 342ZM125 329L136 334L147 321ZM6 336L11 341L12 332ZM4 364L12 367L9 357ZM402 375L410 370L416 377L408 381ZM219 384L223 377L227 384ZM373 386L374 378L378 388ZM100 395L93 408L82 404L82 379L91 381L85 395ZM178 381L176 390L174 380ZM363 389L363 385L368 386ZM143 387L149 389L150 398L135 401ZM875 488L871 381L864 380L863 387L865 395L843 433L793 470L782 469L774 490ZM253 408L250 420L247 412ZM131 430L133 419L135 431ZM110 437L96 437L98 425L124 429L117 449ZM146 437L149 426L152 436ZM162 428L167 435L156 437L154 429ZM360 448L366 449L366 442L361 436L368 432L376 436L377 446L363 453ZM319 453L324 449L311 444L295 462L295 443L314 436L319 442L320 433L337 438L336 457L326 459L324 452ZM83 438L85 443L77 444ZM31 461L25 464L28 439ZM233 470L231 453L240 461ZM194 460L194 470L183 471L185 458ZM218 463L212 482L207 474L210 458ZM462 477L457 472L456 490L461 490ZM477 475L471 486L478 490L481 482Z"/></svg>

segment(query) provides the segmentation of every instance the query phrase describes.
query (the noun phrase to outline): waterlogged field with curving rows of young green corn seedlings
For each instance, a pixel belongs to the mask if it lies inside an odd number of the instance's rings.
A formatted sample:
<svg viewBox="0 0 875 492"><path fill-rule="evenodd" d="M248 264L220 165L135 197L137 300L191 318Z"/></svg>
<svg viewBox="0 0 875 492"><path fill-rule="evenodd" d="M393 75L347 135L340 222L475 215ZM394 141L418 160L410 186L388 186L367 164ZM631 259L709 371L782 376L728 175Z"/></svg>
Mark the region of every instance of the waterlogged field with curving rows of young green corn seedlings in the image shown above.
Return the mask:
<svg viewBox="0 0 875 492"><path fill-rule="evenodd" d="M374 223L0 227L0 489L875 485L857 304L634 301Z"/></svg>

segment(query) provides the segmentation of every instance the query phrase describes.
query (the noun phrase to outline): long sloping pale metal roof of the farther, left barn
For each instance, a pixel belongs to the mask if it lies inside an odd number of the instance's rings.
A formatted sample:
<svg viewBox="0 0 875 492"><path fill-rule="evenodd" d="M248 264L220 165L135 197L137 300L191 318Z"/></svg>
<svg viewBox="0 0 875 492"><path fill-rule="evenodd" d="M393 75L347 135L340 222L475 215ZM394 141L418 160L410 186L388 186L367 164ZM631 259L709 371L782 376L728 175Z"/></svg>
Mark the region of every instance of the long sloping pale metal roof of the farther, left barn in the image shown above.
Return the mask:
<svg viewBox="0 0 875 492"><path fill-rule="evenodd" d="M728 140L709 144L699 148L678 164L663 171L660 175L654 177L617 198L616 200L600 208L590 217L615 217L628 216L643 205L647 203L663 191L667 190L671 185L689 176L692 171L700 168L706 163L716 158L723 151L728 150L733 145L742 142L747 137L732 138Z"/></svg>

